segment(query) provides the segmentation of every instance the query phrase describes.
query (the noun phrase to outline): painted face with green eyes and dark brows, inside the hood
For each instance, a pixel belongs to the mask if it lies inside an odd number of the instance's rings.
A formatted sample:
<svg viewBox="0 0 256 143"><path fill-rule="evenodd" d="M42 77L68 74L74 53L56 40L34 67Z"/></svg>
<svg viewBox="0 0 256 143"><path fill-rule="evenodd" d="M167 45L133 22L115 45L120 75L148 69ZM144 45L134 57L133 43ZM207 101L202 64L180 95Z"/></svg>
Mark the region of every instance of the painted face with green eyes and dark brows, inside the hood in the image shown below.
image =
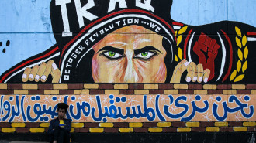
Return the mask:
<svg viewBox="0 0 256 143"><path fill-rule="evenodd" d="M163 36L142 26L126 26L93 46L95 83L164 83Z"/></svg>

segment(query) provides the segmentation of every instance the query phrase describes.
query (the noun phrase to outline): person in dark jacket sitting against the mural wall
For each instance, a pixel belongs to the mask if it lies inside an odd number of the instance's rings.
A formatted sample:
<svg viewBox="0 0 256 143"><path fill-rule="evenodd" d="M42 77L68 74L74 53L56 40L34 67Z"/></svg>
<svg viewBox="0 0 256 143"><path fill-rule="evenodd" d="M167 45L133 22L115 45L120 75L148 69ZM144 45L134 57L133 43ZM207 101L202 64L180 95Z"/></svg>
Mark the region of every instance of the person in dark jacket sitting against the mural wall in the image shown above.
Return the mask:
<svg viewBox="0 0 256 143"><path fill-rule="evenodd" d="M71 119L66 119L68 105L65 103L57 104L58 117L50 121L48 134L50 135L50 142L62 143L70 142L71 138Z"/></svg>

